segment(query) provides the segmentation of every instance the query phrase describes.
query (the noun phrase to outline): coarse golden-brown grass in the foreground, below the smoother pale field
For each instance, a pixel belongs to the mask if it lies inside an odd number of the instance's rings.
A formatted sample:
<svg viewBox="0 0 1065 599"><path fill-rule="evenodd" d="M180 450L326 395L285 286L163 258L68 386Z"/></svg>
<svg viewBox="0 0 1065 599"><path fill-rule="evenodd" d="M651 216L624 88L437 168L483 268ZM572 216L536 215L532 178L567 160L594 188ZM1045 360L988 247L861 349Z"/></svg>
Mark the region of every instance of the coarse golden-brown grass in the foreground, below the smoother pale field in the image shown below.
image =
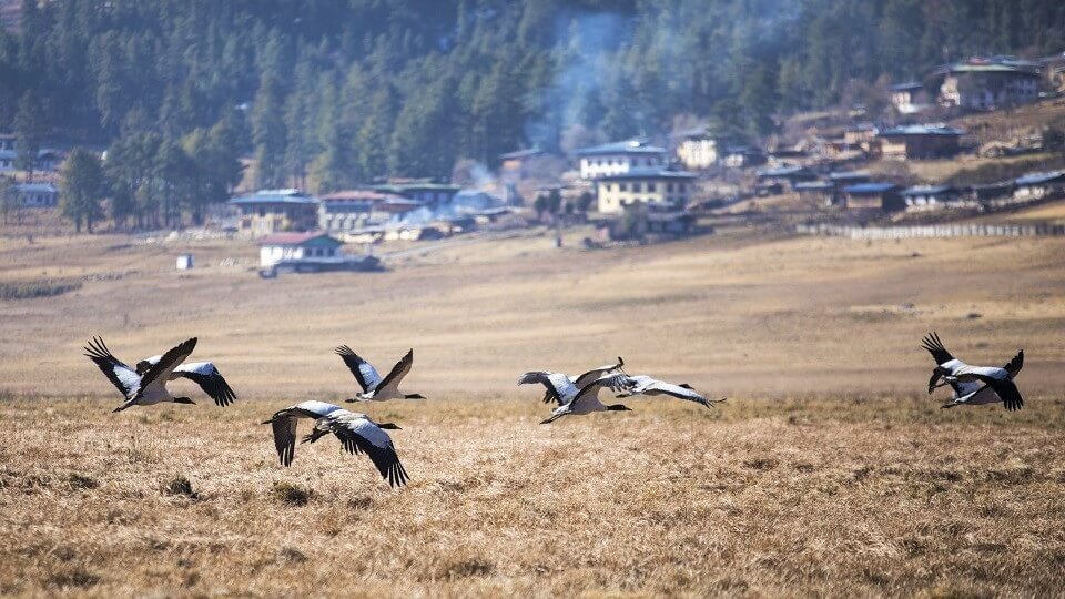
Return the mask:
<svg viewBox="0 0 1065 599"><path fill-rule="evenodd" d="M1046 595L1065 404L510 399L374 405L412 483L335 439L277 465L231 408L6 400L0 592ZM520 397L519 397L520 396ZM42 413L43 412L43 413ZM187 487L185 484L187 483Z"/></svg>

